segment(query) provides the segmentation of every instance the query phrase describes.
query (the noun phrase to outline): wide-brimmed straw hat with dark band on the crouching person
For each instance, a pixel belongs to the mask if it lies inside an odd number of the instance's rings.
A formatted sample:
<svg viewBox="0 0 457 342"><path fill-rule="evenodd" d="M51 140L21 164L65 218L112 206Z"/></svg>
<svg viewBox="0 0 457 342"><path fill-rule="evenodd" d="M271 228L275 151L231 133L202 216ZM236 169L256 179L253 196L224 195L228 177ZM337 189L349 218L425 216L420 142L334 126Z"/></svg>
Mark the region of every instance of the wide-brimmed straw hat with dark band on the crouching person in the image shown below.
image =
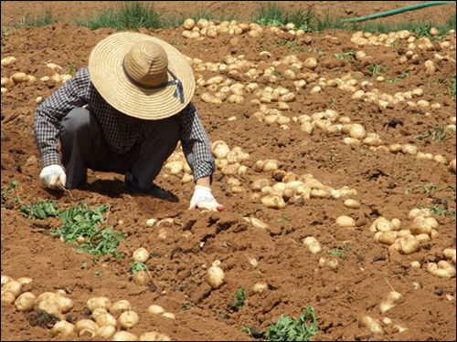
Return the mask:
<svg viewBox="0 0 457 342"><path fill-rule="evenodd" d="M139 119L165 119L194 95L192 67L175 47L141 33L107 36L90 52L90 79L113 108Z"/></svg>

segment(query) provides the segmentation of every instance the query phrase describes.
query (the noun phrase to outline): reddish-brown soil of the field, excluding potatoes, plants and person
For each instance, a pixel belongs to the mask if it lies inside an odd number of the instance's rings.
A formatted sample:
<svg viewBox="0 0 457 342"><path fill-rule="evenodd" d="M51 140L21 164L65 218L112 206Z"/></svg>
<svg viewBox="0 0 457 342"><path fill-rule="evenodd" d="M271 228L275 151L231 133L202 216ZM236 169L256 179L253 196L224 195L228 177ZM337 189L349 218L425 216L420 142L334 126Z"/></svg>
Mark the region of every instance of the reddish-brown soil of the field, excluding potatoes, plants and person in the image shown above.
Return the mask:
<svg viewBox="0 0 457 342"><path fill-rule="evenodd" d="M26 14L33 11L32 2L15 2ZM37 9L43 9L48 2L33 2ZM100 9L113 2L53 2L55 14L79 14L82 10L91 13L92 5ZM166 11L198 11L199 2L158 3ZM299 4L285 2L296 8ZM301 2L307 5L310 2ZM409 2L410 5L420 2ZM90 4L90 5L88 5ZM226 12L249 14L255 3L222 2L203 3L216 11L222 6ZM370 5L371 4L371 5ZM317 2L318 11L324 9L352 10L348 16L364 16L382 12L405 3L391 2ZM446 6L435 6L418 12L409 12L404 16L391 17L392 20L428 18L445 20L451 10ZM2 2L2 25L12 16L16 16L12 2ZM441 17L442 16L442 17ZM175 27L168 30L144 31L173 43L183 54L200 58L204 62L222 62L226 55L245 55L245 58L260 62L263 46L271 48L274 60L289 55L289 46L272 45L281 37L265 30L260 37L249 35L232 37L221 36L215 40L186 40L181 34L183 29ZM56 24L41 28L26 28L11 31L10 36L2 36L2 58L14 55L17 58L14 67L2 67L2 78L10 77L17 71L26 72L36 78L51 76L52 72L44 65L56 63L65 70L69 64L75 65L75 71L85 67L90 49L103 37L112 34L109 29L90 32L86 28ZM331 35L336 40L326 37ZM370 64L357 67L352 61L340 64L334 58L335 53L356 49L350 42L351 33L336 31L323 34L308 34L311 40L299 39L298 46L313 48L312 53L299 55L300 59L316 57L320 67L316 72L322 78L341 78L348 72L365 72ZM287 38L287 36L284 36ZM447 37L455 47L455 34ZM335 44L336 42L336 44ZM430 103L440 103L441 109L433 111L430 117L426 110L413 109L406 104L393 108L380 109L368 102L351 99L348 92L339 88L324 88L319 95L310 95L313 84L298 91L297 98L290 103L291 111L284 114L298 117L324 109L335 109L340 116L353 119L365 126L367 132L376 132L386 146L393 143L412 143L420 151L441 154L452 161L455 158L455 135L448 134L441 141L430 139L417 140L414 137L429 132L441 124L449 124L455 116L455 99L449 96L447 88L437 80L449 79L449 73L455 75L455 62L437 61L434 75L425 74L425 60L436 53L455 58L455 50L420 51L419 63L410 61L399 65L399 55L406 51L406 44L399 47L366 47L368 56L373 57L373 64L384 67L386 79L401 77L405 70L409 76L398 83L378 83L380 92L395 94L414 88L424 90L423 99ZM324 56L314 52L316 48ZM403 51L403 52L402 52ZM338 63L337 63L338 62ZM267 61L270 63L270 61ZM325 67L324 67L325 66ZM73 75L75 73L73 71ZM209 71L201 72L207 79L216 76ZM259 79L261 87L263 78ZM243 84L249 78L239 79ZM276 85L282 85L294 91L290 80L280 78ZM34 141L33 119L37 108L36 98L48 98L59 84L37 80L31 84L8 85L8 92L2 94L2 190L18 181L18 187L8 195L19 198L20 202L10 201L2 209L1 237L1 272L13 278L31 277L31 292L39 295L45 291L67 288L69 297L74 301L74 308L68 319L76 321L87 315L84 306L90 297L107 295L112 302L127 299L133 310L140 316L140 324L132 329L133 334L141 335L148 330L158 330L174 340L243 340L248 335L239 329L246 326L258 326L266 330L282 314L298 317L303 306L313 306L320 331L314 340L453 340L456 335L455 300L446 295L455 295L455 278L441 279L426 271L429 262L438 262L443 258L444 248L455 248L455 223L451 216L433 215L440 223L437 239L420 245L420 252L410 255L388 253L388 248L373 239L368 228L379 216L388 220L399 218L408 227L408 213L420 204L425 206L446 202L450 211L456 210L455 174L448 171L447 165L434 161L417 161L414 155L397 155L382 150L370 151L367 146L351 148L342 143L341 134L327 135L323 130L315 129L312 135L304 133L297 123L289 124L290 130L279 126L267 126L252 117L259 110L246 96L243 105L205 104L199 98L204 88L197 88L193 102L207 130L209 140L225 140L230 148L239 146L250 153L248 174L240 177L241 184L248 189L246 193L233 194L226 184L228 177L216 171L213 191L219 202L226 206L224 212L200 213L187 211L193 184L181 185L177 177L170 177L164 168L157 182L166 190L174 192L179 202L161 202L159 200L131 196L122 193L122 176L112 173L90 172L89 190L73 191L73 196L86 202L90 208L101 204L111 206L108 223L128 236L118 251L122 258L112 263L103 258L98 263L92 262L89 254L78 254L69 244L46 234L49 229L59 225L57 219L32 223L20 214L21 204L38 202L40 199L52 199L58 202L60 209L76 204L67 193L53 192L41 187L38 174L40 171L39 154ZM329 101L332 104L329 103ZM274 103L269 106L273 108ZM228 121L230 117L236 120ZM393 120L401 125L388 125ZM395 127L391 127L395 126ZM259 200L251 200L250 183L260 177L274 182L271 173L252 171L255 161L277 159L284 171L292 171L298 176L311 173L314 178L335 189L347 185L358 192L354 198L362 203L358 210L348 209L343 199L311 199L296 205L290 202L285 209L272 210L262 205ZM168 177L166 177L168 176ZM421 184L439 185L440 188L430 193L424 192ZM454 191L447 191L452 187ZM409 192L409 193L406 193ZM300 205L302 204L302 205ZM441 209L444 205L441 204ZM348 215L356 220L356 228L339 228L335 219ZM164 225L165 240L158 238L158 229L146 227L151 218L174 218L174 225ZM270 227L262 230L244 222L242 217L255 217L268 223ZM106 216L105 216L106 218ZM123 223L119 224L119 220ZM39 226L36 224L38 223ZM38 228L38 229L37 229ZM43 233L44 232L44 233ZM314 236L323 246L323 252L311 254L302 242L303 238ZM201 247L201 243L205 243ZM347 243L349 252L344 252L345 260L339 259L336 272L318 268L319 259L326 250ZM136 285L131 281L129 266L132 264L133 251L145 247L152 257L146 263L153 275L154 286ZM248 257L255 257L259 262L257 270L252 269ZM219 290L211 290L205 280L206 271L202 265L210 265L220 260L226 274L226 284ZM419 261L420 269L410 267L412 261ZM86 263L85 268L81 265ZM95 273L101 271L101 275ZM250 293L247 305L232 313L228 310L239 288L249 290L256 282L265 281L269 289L260 295ZM415 289L413 283L421 288ZM404 297L404 302L381 315L379 304L392 291L393 287ZM192 309L181 311L188 302ZM176 319L147 314L151 304L164 306L168 312L175 313ZM383 336L371 336L366 328L360 328L357 317L367 314L373 318L389 317L394 322L384 326ZM2 340L48 340L51 332L44 327L30 326L30 320L16 312L15 306L2 303ZM409 329L399 333L393 326ZM73 338L79 340L80 338ZM95 338L84 337L84 340Z"/></svg>

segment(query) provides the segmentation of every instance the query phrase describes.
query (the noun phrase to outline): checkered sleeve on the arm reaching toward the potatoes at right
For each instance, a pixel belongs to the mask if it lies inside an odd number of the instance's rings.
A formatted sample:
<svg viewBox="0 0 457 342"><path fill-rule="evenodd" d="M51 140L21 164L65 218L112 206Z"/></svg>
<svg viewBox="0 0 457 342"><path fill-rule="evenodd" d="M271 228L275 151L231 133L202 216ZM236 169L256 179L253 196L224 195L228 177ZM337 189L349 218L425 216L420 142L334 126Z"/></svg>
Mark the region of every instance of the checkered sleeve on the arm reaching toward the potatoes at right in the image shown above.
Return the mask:
<svg viewBox="0 0 457 342"><path fill-rule="evenodd" d="M190 102L185 109L178 113L177 118L181 124L181 143L184 155L190 169L194 173L194 181L212 176L216 170L211 146L207 139L207 132L198 119L197 109Z"/></svg>

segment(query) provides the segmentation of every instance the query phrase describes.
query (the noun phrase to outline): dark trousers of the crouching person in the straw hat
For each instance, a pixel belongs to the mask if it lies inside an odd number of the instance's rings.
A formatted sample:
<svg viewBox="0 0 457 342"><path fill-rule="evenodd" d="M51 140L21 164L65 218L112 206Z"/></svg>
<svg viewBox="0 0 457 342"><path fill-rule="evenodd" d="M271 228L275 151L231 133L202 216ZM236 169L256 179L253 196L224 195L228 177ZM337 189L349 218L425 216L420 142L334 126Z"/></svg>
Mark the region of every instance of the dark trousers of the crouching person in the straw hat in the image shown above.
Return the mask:
<svg viewBox="0 0 457 342"><path fill-rule="evenodd" d="M67 189L87 177L87 169L125 174L132 172L142 189L149 189L173 153L181 136L175 116L148 121L133 148L116 155L103 140L101 128L88 109L72 109L60 123L62 164Z"/></svg>

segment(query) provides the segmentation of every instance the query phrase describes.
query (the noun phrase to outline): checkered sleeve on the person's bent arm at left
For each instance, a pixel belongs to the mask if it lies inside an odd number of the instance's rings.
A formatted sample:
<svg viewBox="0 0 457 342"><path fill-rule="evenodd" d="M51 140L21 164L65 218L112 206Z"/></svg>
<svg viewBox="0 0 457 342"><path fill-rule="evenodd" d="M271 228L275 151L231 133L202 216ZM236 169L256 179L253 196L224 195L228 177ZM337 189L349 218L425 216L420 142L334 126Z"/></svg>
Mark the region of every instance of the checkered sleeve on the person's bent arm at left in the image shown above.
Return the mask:
<svg viewBox="0 0 457 342"><path fill-rule="evenodd" d="M69 79L47 98L35 111L35 141L41 156L41 167L60 165L58 133L60 120L71 109L87 104L89 88L88 67L81 68L74 78Z"/></svg>

